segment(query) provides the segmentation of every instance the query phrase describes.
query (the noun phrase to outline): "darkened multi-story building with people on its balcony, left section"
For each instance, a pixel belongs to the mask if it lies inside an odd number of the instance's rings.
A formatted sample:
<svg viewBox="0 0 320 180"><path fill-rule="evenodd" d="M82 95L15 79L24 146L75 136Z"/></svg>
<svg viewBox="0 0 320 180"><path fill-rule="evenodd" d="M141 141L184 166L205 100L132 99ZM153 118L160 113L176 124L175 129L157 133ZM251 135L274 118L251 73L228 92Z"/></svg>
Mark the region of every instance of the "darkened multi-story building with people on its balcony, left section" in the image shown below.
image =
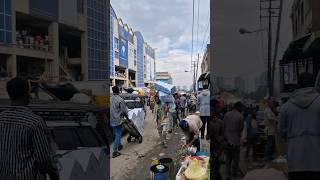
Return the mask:
<svg viewBox="0 0 320 180"><path fill-rule="evenodd" d="M106 80L106 0L1 0L0 69L8 77Z"/></svg>

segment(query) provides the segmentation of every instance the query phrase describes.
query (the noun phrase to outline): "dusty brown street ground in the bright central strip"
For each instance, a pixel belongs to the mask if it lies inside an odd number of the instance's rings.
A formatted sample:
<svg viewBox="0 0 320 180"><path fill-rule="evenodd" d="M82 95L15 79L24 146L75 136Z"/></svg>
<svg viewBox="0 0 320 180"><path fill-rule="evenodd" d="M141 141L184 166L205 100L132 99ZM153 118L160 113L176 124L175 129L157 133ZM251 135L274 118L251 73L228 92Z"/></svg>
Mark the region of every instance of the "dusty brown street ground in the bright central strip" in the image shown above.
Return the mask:
<svg viewBox="0 0 320 180"><path fill-rule="evenodd" d="M143 135L143 143L127 143L125 136L122 139L124 145L121 151L122 156L111 159L111 180L146 180L150 179L150 164L153 158L169 157L178 158L184 141L182 140L183 133L177 129L172 134L168 135L168 148L164 149L158 145L159 136L156 130L156 125L152 120L152 114L149 111L145 122L145 132ZM203 141L203 150L209 150L207 141ZM180 167L175 165L176 170Z"/></svg>

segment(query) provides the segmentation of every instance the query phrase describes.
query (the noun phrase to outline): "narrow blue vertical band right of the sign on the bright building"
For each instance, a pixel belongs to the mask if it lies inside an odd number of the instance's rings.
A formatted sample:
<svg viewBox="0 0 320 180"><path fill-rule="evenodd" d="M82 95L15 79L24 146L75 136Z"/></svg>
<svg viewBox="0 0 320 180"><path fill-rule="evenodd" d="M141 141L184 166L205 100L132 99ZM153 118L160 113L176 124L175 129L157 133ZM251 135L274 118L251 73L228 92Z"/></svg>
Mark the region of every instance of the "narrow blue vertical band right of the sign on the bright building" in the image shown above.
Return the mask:
<svg viewBox="0 0 320 180"><path fill-rule="evenodd" d="M143 36L140 32L135 33L137 36L137 86L144 87L144 70L143 70Z"/></svg>

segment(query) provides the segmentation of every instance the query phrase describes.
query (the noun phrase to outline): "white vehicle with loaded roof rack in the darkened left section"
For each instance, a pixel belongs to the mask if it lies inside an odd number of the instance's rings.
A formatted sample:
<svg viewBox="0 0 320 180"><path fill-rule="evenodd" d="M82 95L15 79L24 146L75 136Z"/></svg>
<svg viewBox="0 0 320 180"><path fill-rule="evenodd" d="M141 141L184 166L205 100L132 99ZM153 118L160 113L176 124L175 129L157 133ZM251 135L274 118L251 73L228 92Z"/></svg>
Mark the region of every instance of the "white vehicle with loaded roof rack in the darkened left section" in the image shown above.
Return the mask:
<svg viewBox="0 0 320 180"><path fill-rule="evenodd" d="M61 180L109 179L111 136L104 128L106 109L69 102L67 96L71 98L76 92L69 85L40 84L37 88L38 95L32 94L29 108L47 124ZM8 95L1 95L0 111L3 111L10 108L10 100Z"/></svg>

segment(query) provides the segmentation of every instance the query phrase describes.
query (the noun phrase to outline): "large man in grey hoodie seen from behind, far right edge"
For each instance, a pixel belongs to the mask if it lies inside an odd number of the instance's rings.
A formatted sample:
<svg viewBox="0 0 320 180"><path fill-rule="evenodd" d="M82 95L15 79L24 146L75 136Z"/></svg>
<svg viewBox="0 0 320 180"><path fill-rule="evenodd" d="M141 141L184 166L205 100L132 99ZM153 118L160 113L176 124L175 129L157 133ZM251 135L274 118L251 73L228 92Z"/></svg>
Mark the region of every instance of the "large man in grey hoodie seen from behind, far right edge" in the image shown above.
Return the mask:
<svg viewBox="0 0 320 180"><path fill-rule="evenodd" d="M312 74L303 73L299 89L280 110L279 129L288 144L291 180L320 179L320 94Z"/></svg>

